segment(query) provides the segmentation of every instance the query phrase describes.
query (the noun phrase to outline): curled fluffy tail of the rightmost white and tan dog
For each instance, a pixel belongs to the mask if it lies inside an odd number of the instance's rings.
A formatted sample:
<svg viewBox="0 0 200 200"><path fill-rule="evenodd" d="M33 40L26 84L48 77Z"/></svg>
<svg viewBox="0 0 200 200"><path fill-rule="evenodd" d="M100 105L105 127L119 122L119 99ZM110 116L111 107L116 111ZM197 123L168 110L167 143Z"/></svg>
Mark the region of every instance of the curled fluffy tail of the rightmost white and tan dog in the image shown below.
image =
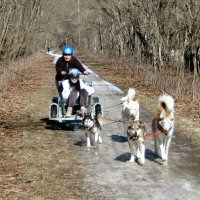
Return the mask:
<svg viewBox="0 0 200 200"><path fill-rule="evenodd" d="M174 99L168 94L163 94L159 97L159 107L163 108L166 112L174 112Z"/></svg>

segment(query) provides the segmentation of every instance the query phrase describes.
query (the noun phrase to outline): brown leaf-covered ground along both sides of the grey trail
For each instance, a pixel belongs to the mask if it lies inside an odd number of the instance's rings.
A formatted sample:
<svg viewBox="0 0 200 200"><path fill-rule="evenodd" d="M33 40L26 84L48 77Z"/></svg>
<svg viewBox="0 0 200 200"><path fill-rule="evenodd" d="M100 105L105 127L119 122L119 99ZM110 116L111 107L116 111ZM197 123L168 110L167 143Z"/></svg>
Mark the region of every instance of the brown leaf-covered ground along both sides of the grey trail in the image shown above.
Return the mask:
<svg viewBox="0 0 200 200"><path fill-rule="evenodd" d="M125 92L130 87L126 81L123 83L120 76L116 77L119 69L110 70L86 57L82 57L82 60L91 65L91 69L103 79L116 84ZM42 53L24 71L23 78L1 88L2 200L101 199L90 185L83 185L82 171L85 166L78 162L73 153L73 144L70 142L73 136L66 135L63 130L49 129L46 124L51 98L57 95L52 61L52 57ZM143 106L153 111L157 93L142 86L136 89L141 91ZM200 144L200 123L182 112L181 106L178 106L177 118L176 125L182 130L182 134L189 137L191 143Z"/></svg>

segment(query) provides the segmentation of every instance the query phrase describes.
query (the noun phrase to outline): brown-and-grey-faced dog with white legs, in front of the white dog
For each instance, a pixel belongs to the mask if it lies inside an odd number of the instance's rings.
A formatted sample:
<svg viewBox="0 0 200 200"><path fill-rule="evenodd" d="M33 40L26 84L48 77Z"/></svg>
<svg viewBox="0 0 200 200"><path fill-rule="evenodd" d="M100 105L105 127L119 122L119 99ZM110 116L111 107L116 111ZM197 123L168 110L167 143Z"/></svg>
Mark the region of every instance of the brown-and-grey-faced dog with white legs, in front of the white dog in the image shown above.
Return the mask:
<svg viewBox="0 0 200 200"><path fill-rule="evenodd" d="M145 163L145 135L146 125L143 122L132 120L127 130L127 139L131 152L130 162L137 160L141 165ZM136 156L134 155L133 146L136 149Z"/></svg>

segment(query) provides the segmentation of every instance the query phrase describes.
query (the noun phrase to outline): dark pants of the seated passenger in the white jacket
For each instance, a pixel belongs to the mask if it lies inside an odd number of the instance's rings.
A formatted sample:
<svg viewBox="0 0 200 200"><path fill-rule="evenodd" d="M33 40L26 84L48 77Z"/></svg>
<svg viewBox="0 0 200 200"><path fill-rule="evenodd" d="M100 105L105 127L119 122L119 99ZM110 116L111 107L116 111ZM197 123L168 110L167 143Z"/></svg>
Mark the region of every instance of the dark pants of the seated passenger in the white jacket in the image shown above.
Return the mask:
<svg viewBox="0 0 200 200"><path fill-rule="evenodd" d="M77 90L72 90L70 92L69 98L68 98L68 107L73 107L77 102ZM79 92L79 104L80 106L86 107L87 104L87 98L88 98L88 92L85 89L81 89Z"/></svg>

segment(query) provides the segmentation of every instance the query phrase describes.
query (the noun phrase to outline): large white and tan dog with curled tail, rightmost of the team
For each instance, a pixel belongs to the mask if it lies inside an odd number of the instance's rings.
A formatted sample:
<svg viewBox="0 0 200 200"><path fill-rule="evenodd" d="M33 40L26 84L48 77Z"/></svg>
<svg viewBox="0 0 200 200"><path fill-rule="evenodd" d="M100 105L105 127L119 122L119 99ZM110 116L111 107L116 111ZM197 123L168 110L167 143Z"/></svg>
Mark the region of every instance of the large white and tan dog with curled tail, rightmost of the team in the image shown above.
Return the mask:
<svg viewBox="0 0 200 200"><path fill-rule="evenodd" d="M167 162L169 146L174 132L175 103L173 97L168 94L161 95L158 102L158 111L152 121L153 132L161 132L154 137L155 154Z"/></svg>

